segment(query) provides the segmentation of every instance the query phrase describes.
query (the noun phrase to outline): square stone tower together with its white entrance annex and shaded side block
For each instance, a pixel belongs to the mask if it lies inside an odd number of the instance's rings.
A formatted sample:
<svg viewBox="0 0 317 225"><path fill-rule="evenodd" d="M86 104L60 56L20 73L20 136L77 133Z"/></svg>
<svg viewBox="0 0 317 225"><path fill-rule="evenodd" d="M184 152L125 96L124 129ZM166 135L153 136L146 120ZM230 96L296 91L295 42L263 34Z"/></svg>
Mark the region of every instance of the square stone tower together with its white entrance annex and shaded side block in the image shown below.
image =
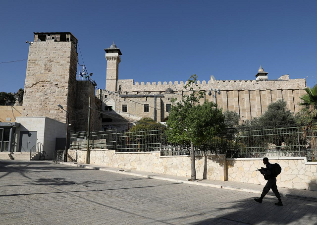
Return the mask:
<svg viewBox="0 0 317 225"><path fill-rule="evenodd" d="M68 130L87 130L89 98L91 108L100 109L101 104L95 96L96 82L89 76L77 76L77 39L72 33L34 33L33 42L27 43L21 116L15 122L1 122L0 134L7 138L0 139L0 151L29 152L30 158L30 151L43 145L46 157L52 159L62 139L64 144L58 148L65 148L67 113ZM101 129L100 116L92 110L91 129Z"/></svg>

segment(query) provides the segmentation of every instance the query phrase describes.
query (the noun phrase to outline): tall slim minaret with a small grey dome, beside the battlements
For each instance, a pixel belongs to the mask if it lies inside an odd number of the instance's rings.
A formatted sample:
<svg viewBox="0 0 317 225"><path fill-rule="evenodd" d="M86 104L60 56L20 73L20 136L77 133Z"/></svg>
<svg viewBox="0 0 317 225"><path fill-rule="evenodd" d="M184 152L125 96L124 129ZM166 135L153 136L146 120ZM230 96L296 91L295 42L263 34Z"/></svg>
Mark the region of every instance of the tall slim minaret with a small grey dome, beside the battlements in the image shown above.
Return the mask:
<svg viewBox="0 0 317 225"><path fill-rule="evenodd" d="M107 60L107 71L106 71L106 90L107 91L117 91L118 82L118 70L119 63L121 61L121 51L113 44L110 48L105 49L106 60Z"/></svg>

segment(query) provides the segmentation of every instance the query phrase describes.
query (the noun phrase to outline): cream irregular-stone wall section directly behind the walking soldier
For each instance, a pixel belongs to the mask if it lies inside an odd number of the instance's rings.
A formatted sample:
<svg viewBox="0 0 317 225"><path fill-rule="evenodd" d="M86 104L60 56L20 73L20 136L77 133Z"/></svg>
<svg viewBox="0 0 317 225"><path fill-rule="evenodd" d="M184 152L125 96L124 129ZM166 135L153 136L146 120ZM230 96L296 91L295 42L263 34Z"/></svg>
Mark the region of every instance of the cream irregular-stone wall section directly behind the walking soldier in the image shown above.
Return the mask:
<svg viewBox="0 0 317 225"><path fill-rule="evenodd" d="M271 158L271 164L278 163L282 172L276 177L278 187L317 191L317 163L308 163L306 157ZM263 159L227 159L228 180L244 183L266 183L260 171L265 168Z"/></svg>

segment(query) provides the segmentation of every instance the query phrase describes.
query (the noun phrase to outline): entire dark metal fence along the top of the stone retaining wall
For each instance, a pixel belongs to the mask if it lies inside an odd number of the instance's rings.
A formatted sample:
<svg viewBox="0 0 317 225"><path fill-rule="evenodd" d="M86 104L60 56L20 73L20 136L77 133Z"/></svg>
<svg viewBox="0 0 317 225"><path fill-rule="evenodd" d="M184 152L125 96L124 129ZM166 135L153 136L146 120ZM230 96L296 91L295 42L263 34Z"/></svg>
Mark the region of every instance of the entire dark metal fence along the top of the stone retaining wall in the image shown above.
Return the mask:
<svg viewBox="0 0 317 225"><path fill-rule="evenodd" d="M70 148L86 149L87 132L73 132ZM160 151L161 156L190 155L190 145L173 145L161 129L141 131L95 130L90 149L114 149L116 152ZM226 154L227 158L298 157L317 158L317 130L305 126L240 127L226 129L206 144L195 146L195 155Z"/></svg>

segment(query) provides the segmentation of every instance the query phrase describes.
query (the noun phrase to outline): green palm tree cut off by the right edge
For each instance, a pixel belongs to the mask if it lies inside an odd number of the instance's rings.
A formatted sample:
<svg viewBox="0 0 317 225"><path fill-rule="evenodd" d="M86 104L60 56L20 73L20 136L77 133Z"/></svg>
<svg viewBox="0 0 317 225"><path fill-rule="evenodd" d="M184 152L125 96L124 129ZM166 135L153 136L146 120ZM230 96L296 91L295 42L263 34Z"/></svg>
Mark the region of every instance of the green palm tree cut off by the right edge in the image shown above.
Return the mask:
<svg viewBox="0 0 317 225"><path fill-rule="evenodd" d="M302 100L299 105L303 106L298 121L305 123L306 137L310 136L310 145L312 148L312 160L314 161L314 155L317 155L317 85L313 88L305 88L307 94L300 97Z"/></svg>

